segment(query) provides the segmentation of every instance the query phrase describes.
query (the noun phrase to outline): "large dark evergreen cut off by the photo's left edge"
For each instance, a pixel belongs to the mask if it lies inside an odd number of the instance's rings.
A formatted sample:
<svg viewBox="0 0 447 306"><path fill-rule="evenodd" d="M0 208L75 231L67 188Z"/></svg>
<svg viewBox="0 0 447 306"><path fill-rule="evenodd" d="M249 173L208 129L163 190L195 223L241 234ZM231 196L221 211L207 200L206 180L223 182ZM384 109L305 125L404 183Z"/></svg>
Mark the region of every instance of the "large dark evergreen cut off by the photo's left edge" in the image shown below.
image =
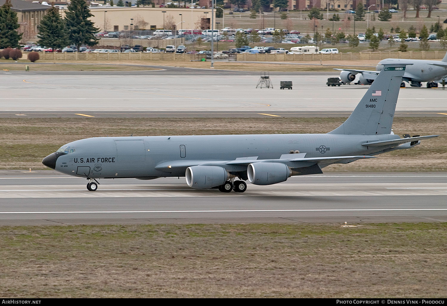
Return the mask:
<svg viewBox="0 0 447 306"><path fill-rule="evenodd" d="M17 22L17 13L11 7L11 0L6 0L0 7L0 49L18 47L22 34L17 32L20 27Z"/></svg>

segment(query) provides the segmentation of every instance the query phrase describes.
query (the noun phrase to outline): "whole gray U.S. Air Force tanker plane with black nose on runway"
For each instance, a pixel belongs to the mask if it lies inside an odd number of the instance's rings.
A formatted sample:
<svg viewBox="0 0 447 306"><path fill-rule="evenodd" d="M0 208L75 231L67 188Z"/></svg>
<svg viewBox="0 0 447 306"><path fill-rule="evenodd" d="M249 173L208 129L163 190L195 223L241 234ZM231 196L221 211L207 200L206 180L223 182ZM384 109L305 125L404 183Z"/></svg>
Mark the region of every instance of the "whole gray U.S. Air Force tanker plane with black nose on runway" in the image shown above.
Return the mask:
<svg viewBox="0 0 447 306"><path fill-rule="evenodd" d="M407 64L384 64L349 118L327 134L96 137L65 144L42 163L87 178L90 191L97 190L98 178L185 176L192 188L244 192L246 180L270 185L321 174L334 163L375 158L439 136L400 138L391 130Z"/></svg>

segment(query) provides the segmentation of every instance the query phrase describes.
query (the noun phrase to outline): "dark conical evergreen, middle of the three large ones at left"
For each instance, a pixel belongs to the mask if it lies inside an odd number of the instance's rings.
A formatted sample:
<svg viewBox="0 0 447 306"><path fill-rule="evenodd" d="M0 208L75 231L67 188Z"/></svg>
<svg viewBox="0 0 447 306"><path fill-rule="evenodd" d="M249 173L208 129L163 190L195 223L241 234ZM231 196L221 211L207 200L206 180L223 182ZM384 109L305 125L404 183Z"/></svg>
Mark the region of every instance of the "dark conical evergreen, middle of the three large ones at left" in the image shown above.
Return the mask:
<svg viewBox="0 0 447 306"><path fill-rule="evenodd" d="M67 32L65 22L59 15L59 9L52 6L47 12L40 21L38 44L54 51L67 46Z"/></svg>

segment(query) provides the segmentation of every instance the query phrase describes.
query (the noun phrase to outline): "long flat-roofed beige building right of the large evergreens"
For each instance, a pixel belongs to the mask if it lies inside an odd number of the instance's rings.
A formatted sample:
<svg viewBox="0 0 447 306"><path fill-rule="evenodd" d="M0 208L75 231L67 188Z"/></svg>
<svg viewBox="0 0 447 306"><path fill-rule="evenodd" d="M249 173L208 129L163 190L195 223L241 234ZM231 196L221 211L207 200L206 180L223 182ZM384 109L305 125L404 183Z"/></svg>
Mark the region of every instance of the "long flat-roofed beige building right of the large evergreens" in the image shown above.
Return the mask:
<svg viewBox="0 0 447 306"><path fill-rule="evenodd" d="M211 9L108 6L90 8L90 12L93 14L90 19L101 31L211 28Z"/></svg>

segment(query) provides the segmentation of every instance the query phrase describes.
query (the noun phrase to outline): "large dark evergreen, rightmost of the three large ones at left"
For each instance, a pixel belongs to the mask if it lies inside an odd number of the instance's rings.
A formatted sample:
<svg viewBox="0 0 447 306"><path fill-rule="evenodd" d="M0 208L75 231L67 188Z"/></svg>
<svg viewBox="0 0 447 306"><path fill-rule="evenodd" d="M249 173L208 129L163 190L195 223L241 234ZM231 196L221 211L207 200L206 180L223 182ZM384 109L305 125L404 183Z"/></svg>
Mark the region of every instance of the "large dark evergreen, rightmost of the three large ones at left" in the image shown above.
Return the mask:
<svg viewBox="0 0 447 306"><path fill-rule="evenodd" d="M76 45L78 52L82 44L94 46L98 43L98 39L93 34L99 29L95 28L93 22L89 20L92 16L85 0L72 0L67 6L65 24L68 41Z"/></svg>

